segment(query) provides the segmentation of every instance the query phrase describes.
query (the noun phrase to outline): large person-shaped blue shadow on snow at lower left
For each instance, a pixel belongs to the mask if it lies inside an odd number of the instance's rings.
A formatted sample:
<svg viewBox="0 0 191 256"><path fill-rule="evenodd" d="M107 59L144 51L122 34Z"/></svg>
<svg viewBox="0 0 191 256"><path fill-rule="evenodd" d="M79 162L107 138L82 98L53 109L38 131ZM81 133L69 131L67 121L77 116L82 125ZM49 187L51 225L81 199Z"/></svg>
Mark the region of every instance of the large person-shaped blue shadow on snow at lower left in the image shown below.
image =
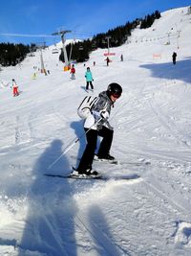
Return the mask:
<svg viewBox="0 0 191 256"><path fill-rule="evenodd" d="M71 185L67 179L63 182L63 179L43 176L61 153L62 142L54 140L33 167L34 181L29 192L28 216L19 244L22 250L43 255L76 255L74 214L77 209L70 195ZM65 156L56 165L57 172L60 173L62 168L69 168ZM20 256L23 255L22 250Z"/></svg>

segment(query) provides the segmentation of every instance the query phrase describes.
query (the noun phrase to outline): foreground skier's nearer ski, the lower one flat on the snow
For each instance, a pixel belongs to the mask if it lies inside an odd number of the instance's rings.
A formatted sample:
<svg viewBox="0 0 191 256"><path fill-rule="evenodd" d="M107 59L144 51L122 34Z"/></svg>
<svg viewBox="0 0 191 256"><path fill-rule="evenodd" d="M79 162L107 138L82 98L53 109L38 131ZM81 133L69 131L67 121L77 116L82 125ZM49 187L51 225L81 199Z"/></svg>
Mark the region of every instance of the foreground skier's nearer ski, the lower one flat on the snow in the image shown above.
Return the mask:
<svg viewBox="0 0 191 256"><path fill-rule="evenodd" d="M44 174L49 177L59 177L59 178L71 178L71 179L84 179L84 180L133 180L140 178L139 175L52 175Z"/></svg>

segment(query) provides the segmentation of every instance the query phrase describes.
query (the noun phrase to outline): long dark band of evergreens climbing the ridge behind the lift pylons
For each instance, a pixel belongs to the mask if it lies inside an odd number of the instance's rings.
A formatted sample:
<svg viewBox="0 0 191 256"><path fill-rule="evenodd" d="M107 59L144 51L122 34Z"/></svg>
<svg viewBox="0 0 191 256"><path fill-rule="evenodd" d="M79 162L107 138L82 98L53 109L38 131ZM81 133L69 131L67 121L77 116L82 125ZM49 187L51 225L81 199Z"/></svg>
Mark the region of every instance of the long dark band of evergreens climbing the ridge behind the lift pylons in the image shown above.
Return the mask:
<svg viewBox="0 0 191 256"><path fill-rule="evenodd" d="M127 22L123 26L118 26L115 29L109 30L107 33L101 33L94 35L92 39L87 39L81 42L75 42L74 44L68 44L66 46L67 54L71 59L76 62L83 62L89 59L89 55L97 48L107 48L109 38L109 47L117 47L125 43L132 31L138 27L140 29L146 29L152 26L155 19L159 19L160 13L156 11L151 15L147 15L142 19L136 19L133 22ZM64 62L63 52L60 55L60 60Z"/></svg>

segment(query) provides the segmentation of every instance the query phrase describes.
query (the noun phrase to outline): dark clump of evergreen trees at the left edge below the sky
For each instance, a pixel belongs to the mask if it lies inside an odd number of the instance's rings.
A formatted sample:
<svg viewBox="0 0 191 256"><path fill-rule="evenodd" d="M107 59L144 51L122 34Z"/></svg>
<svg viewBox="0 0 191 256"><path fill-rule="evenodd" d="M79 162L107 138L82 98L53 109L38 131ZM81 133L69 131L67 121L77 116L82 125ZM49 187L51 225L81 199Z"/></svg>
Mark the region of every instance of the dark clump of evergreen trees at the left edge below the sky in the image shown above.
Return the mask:
<svg viewBox="0 0 191 256"><path fill-rule="evenodd" d="M0 43L0 65L15 66L26 58L33 50L34 45Z"/></svg>

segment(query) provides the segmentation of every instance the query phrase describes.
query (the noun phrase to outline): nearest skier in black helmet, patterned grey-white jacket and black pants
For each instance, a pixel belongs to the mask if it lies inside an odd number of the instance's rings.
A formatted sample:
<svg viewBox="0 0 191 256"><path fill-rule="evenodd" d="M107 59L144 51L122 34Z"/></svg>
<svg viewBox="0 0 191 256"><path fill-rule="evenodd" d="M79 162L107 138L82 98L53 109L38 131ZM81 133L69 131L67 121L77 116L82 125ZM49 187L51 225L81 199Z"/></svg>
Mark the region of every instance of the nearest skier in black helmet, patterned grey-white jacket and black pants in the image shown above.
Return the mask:
<svg viewBox="0 0 191 256"><path fill-rule="evenodd" d="M98 136L103 138L97 152L98 159L115 160L115 157L110 155L114 129L110 126L108 118L121 93L122 88L116 82L109 84L106 91L99 93L98 100L84 123L87 145L74 175L98 175L92 170Z"/></svg>

